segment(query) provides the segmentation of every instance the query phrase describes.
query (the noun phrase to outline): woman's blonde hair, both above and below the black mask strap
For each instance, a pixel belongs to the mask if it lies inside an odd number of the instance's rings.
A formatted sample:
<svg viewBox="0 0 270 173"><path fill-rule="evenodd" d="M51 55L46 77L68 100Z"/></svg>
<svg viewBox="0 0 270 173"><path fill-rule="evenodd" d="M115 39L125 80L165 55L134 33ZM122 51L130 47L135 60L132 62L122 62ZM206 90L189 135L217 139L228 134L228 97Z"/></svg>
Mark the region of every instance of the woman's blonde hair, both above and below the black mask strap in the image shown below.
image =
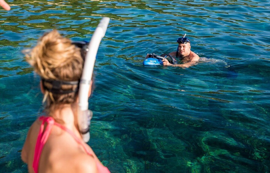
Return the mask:
<svg viewBox="0 0 270 173"><path fill-rule="evenodd" d="M81 78L83 59L81 49L62 37L56 30L45 33L32 49L26 54L26 60L35 67L36 73L45 80L78 81ZM44 86L51 89L52 85L44 81ZM61 85L61 90L75 90L75 85ZM45 90L43 103L45 111L50 115L55 108L76 102L78 92L55 94Z"/></svg>

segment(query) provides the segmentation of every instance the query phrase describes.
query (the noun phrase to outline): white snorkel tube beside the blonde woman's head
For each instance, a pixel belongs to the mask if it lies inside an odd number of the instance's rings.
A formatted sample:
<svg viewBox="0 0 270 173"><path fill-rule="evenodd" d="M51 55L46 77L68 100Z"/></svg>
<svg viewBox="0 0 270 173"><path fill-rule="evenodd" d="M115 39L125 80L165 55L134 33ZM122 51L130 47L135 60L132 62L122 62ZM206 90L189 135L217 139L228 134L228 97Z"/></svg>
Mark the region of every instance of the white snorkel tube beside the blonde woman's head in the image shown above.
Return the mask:
<svg viewBox="0 0 270 173"><path fill-rule="evenodd" d="M88 52L85 55L84 68L82 71L80 86L79 86L79 109L78 109L78 126L84 142L90 139L90 120L92 111L88 110L88 93L92 80L96 54L99 48L101 39L105 36L110 18L103 17L99 22L88 45Z"/></svg>

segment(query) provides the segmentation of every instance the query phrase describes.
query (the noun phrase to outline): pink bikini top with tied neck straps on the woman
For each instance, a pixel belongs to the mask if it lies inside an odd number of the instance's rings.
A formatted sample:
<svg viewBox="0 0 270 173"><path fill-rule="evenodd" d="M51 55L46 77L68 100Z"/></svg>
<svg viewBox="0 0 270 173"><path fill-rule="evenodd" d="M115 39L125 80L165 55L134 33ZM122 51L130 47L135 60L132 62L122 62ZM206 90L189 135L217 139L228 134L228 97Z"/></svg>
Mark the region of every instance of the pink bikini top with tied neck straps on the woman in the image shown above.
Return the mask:
<svg viewBox="0 0 270 173"><path fill-rule="evenodd" d="M75 139L75 141L84 148L84 151L89 156L92 156L92 153L87 150L87 148L85 147L83 142L77 136L75 136L75 134L73 134L73 132L71 130L69 130L65 126L62 126L61 124L58 124L57 122L55 122L54 118L41 116L41 117L39 117L39 120L42 121L42 124L40 126L39 135L38 135L37 142L36 142L35 154L34 154L33 169L35 172L38 172L40 155L41 155L42 149L43 149L48 137L50 136L51 129L52 129L53 125L58 126L62 130L65 130L67 133L69 133ZM47 123L47 128L43 132L45 122ZM103 172L104 173L110 172L107 167L100 164L100 162L97 160L96 160L96 164L97 164L97 168L98 168L99 172L102 172L102 173Z"/></svg>

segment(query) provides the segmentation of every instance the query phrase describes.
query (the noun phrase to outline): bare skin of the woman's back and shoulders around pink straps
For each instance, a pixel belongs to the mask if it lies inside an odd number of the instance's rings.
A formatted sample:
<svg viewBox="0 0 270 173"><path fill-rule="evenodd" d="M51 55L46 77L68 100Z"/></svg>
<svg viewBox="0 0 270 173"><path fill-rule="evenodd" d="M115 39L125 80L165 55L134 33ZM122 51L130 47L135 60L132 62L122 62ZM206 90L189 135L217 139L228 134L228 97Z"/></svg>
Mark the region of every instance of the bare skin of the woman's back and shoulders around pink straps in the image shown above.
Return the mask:
<svg viewBox="0 0 270 173"><path fill-rule="evenodd" d="M24 161L28 164L29 172L34 172L36 141L41 124L40 120L33 123L28 132L26 141L28 145L24 146L22 152L22 159L25 159ZM45 124L43 132L47 127L48 125ZM84 147L90 154L86 153ZM24 158L24 152L27 152L27 158ZM68 132L53 125L41 151L38 172L97 172L97 164L101 163L88 145L83 142L79 144Z"/></svg>

